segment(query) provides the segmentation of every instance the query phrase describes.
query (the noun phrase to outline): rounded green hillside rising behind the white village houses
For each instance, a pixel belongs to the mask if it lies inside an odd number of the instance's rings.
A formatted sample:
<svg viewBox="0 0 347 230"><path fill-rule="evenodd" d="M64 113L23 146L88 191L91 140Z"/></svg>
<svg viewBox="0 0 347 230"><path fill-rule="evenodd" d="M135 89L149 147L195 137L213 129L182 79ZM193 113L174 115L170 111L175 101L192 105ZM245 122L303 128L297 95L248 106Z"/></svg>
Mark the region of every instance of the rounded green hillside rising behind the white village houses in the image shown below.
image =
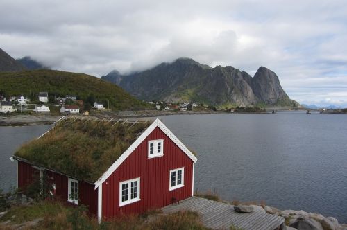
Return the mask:
<svg viewBox="0 0 347 230"><path fill-rule="evenodd" d="M6 97L24 95L31 100L37 100L40 91L48 91L50 100L53 100L54 96L76 95L85 102L100 101L105 107L110 103L112 110L148 107L148 104L130 96L120 87L84 73L48 69L0 73L0 93Z"/></svg>

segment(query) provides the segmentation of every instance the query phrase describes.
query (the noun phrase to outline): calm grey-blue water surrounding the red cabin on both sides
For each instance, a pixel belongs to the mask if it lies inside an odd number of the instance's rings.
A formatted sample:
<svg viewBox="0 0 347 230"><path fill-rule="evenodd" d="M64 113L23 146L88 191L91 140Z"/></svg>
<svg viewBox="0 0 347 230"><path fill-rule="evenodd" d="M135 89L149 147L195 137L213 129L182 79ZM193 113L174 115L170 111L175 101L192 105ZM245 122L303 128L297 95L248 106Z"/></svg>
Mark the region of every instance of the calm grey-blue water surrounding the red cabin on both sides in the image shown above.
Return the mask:
<svg viewBox="0 0 347 230"><path fill-rule="evenodd" d="M163 116L162 121L198 153L198 191L347 222L346 115L178 115ZM8 157L47 129L0 127L0 188L16 184L17 166Z"/></svg>

